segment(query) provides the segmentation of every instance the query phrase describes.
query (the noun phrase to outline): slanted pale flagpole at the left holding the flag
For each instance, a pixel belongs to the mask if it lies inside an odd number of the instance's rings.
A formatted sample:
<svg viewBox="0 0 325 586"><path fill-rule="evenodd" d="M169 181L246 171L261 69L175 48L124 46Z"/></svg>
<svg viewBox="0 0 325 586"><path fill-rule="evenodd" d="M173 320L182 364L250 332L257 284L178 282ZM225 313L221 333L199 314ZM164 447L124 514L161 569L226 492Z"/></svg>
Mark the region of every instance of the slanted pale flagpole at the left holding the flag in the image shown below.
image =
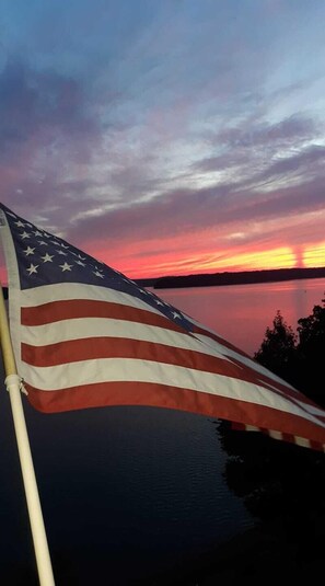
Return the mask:
<svg viewBox="0 0 325 586"><path fill-rule="evenodd" d="M31 529L34 541L35 556L38 570L40 586L55 586L51 562L48 551L47 538L44 527L43 514L38 496L38 489L35 478L34 464L27 435L26 422L24 417L21 391L24 392L22 379L16 374L15 359L11 345L10 331L8 325L7 310L3 298L3 290L0 284L0 335L1 347L7 375L5 387L9 391L11 410L19 448L25 495L30 515Z"/></svg>

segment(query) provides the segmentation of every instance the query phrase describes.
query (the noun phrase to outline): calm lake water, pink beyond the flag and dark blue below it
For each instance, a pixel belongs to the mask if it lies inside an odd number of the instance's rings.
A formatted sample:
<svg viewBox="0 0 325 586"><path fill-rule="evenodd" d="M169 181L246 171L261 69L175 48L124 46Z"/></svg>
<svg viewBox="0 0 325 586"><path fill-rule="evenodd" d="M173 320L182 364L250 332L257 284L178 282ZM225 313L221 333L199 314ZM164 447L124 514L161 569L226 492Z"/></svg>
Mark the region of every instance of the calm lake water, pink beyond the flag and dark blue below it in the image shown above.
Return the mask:
<svg viewBox="0 0 325 586"><path fill-rule="evenodd" d="M252 354L277 309L295 326L324 289L325 279L310 279L155 292ZM228 489L228 455L207 417L125 406L44 415L25 400L24 409L57 586L149 584L255 522ZM5 391L0 526L0 584L36 585Z"/></svg>

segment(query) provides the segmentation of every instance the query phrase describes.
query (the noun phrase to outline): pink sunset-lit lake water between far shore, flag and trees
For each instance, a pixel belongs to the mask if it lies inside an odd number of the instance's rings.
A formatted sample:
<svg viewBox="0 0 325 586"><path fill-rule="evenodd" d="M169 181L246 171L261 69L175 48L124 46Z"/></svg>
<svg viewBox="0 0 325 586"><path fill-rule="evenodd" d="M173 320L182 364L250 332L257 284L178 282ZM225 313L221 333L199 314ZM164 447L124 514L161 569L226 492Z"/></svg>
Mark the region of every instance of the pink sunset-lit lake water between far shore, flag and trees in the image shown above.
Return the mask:
<svg viewBox="0 0 325 586"><path fill-rule="evenodd" d="M150 290L253 356L278 309L295 331L321 305L325 279Z"/></svg>

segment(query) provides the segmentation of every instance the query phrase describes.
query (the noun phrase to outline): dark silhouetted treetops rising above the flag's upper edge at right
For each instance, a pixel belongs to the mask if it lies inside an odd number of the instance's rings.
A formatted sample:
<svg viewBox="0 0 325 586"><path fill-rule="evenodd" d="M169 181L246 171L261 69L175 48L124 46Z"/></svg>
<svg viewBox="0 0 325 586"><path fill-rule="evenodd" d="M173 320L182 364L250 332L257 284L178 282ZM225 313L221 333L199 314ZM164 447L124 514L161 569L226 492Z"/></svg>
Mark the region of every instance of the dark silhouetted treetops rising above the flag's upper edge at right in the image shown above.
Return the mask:
<svg viewBox="0 0 325 586"><path fill-rule="evenodd" d="M277 311L254 358L325 407L325 299L322 303L298 320L297 334Z"/></svg>

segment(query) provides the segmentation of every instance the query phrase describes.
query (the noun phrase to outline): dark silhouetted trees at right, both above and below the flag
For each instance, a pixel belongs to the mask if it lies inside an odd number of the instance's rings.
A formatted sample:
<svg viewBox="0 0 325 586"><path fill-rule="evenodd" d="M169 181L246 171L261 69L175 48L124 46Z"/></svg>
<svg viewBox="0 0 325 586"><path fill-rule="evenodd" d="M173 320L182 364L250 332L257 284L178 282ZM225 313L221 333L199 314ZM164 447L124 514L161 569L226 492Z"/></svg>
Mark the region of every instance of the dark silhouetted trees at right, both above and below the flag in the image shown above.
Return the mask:
<svg viewBox="0 0 325 586"><path fill-rule="evenodd" d="M255 354L256 360L321 405L325 405L325 299L298 322L298 333L280 311ZM275 524L275 543L292 547L297 563L323 563L325 551L325 455L262 433L235 432L217 422L228 453L224 478L249 513ZM276 545L275 545L276 549Z"/></svg>

